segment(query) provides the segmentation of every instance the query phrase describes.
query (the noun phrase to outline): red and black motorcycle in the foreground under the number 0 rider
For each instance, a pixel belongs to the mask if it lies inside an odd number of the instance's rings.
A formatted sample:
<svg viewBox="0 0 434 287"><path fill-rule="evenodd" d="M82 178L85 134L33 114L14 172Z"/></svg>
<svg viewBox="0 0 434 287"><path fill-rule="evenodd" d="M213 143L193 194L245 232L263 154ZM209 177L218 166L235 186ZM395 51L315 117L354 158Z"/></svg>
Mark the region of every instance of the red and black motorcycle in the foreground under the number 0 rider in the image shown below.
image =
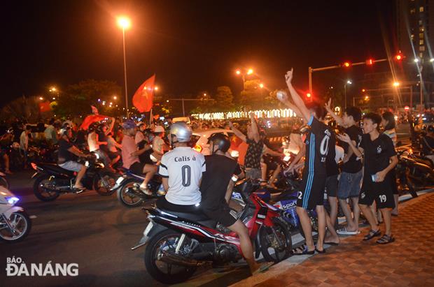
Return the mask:
<svg viewBox="0 0 434 287"><path fill-rule="evenodd" d="M241 196L246 205L237 216L248 228L255 257L262 253L269 262L287 258L292 249L288 224L275 207L252 192L251 181L244 181L242 186ZM132 250L146 244L146 271L154 279L164 284L181 283L201 265L236 263L241 259L237 234L207 216L158 207L145 210L150 222Z"/></svg>

